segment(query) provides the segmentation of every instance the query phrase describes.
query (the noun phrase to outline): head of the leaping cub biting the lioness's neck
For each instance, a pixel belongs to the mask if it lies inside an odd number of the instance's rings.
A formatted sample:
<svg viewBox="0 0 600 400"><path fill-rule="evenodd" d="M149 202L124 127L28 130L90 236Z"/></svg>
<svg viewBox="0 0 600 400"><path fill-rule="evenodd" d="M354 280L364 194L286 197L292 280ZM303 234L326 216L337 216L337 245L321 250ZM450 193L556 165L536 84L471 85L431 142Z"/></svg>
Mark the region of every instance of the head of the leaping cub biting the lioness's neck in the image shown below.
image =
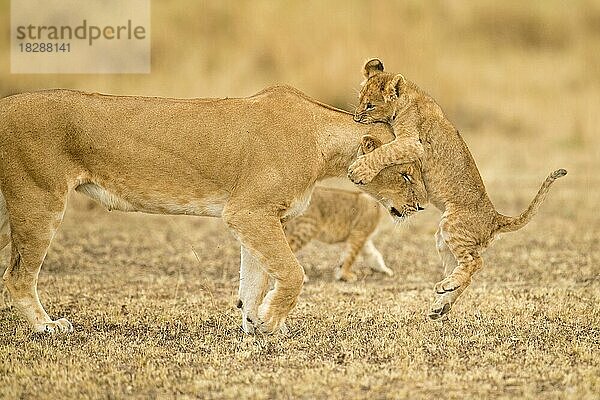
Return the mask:
<svg viewBox="0 0 600 400"><path fill-rule="evenodd" d="M383 71L383 63L377 58L367 61L363 67L365 77L354 111L354 120L363 124L371 122L392 123L414 104L419 93L402 74Z"/></svg>

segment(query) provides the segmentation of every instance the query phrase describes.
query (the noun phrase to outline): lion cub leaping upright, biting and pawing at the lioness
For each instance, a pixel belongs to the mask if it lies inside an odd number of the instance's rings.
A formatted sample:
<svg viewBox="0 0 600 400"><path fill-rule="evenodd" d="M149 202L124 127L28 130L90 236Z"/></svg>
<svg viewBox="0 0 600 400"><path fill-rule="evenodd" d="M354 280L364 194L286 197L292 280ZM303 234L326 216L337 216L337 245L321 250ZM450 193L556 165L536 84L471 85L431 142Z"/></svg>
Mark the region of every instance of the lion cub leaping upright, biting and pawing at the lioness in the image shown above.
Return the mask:
<svg viewBox="0 0 600 400"><path fill-rule="evenodd" d="M450 311L471 283L473 274L482 267L481 253L493 238L525 226L550 185L567 171L551 173L521 215L502 215L489 199L467 145L437 103L401 74L384 72L378 59L365 64L363 75L366 80L355 120L388 122L397 138L359 157L349 176L355 183L368 183L387 165L422 159L429 200L443 212L435 237L445 278L435 285L437 299L429 314L437 319Z"/></svg>

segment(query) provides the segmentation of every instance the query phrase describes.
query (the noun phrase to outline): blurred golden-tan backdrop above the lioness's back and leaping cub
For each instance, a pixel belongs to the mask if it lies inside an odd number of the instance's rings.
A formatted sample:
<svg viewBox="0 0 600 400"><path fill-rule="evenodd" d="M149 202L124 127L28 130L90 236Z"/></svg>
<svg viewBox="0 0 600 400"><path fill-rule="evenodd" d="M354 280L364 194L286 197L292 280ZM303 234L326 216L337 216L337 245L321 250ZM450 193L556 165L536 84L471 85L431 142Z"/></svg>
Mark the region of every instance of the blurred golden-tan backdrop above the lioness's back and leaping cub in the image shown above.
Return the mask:
<svg viewBox="0 0 600 400"><path fill-rule="evenodd" d="M151 7L152 73L19 75L10 74L10 2L1 0L0 95L66 87L231 97L287 83L352 110L362 64L379 57L438 100L484 178L541 179L568 168L566 161L585 172L598 159L598 1L164 0Z"/></svg>

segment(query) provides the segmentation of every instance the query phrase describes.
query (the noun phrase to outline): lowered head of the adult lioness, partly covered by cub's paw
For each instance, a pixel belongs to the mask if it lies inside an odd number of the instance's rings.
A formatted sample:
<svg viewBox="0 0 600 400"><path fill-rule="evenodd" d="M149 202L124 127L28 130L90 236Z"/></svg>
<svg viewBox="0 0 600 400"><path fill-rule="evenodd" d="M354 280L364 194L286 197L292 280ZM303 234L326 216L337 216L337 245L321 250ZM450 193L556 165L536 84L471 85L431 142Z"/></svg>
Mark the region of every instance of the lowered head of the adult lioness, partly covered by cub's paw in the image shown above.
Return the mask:
<svg viewBox="0 0 600 400"><path fill-rule="evenodd" d="M362 138L358 156L370 153L383 143L372 135ZM360 189L377 199L394 219L403 220L427 204L427 191L417 163L392 165L382 169Z"/></svg>

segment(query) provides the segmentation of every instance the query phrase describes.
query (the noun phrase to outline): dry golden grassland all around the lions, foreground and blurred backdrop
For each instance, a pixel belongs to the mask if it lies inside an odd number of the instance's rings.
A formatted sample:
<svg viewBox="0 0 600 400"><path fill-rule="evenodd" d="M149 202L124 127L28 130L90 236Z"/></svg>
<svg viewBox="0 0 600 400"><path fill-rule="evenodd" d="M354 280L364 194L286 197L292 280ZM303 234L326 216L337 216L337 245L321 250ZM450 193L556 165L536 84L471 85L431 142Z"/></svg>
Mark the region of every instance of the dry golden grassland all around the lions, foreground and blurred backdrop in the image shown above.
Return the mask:
<svg viewBox="0 0 600 400"><path fill-rule="evenodd" d="M444 323L425 317L441 274L436 211L376 240L393 278L334 282L338 249L308 247L312 281L288 337L241 333L238 247L220 221L108 213L76 197L40 278L48 311L76 332L32 335L5 295L0 398L600 396L595 2L181 4L153 2L152 74L10 75L5 57L0 94L234 96L287 82L350 109L376 55L439 100L500 211L525 207L551 170L569 175L530 226L491 247Z"/></svg>

